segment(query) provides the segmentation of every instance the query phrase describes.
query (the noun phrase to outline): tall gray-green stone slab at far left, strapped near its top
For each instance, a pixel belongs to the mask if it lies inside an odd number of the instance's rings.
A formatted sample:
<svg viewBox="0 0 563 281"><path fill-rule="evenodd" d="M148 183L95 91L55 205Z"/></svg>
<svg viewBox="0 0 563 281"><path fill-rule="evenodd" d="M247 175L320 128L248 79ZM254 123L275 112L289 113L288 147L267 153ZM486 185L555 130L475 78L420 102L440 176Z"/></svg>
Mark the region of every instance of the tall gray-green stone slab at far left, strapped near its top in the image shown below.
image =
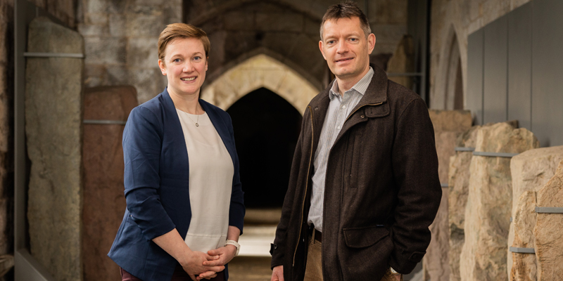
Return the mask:
<svg viewBox="0 0 563 281"><path fill-rule="evenodd" d="M77 32L45 18L30 23L27 51L82 53ZM77 58L27 58L25 133L31 254L56 280L82 280L82 70Z"/></svg>

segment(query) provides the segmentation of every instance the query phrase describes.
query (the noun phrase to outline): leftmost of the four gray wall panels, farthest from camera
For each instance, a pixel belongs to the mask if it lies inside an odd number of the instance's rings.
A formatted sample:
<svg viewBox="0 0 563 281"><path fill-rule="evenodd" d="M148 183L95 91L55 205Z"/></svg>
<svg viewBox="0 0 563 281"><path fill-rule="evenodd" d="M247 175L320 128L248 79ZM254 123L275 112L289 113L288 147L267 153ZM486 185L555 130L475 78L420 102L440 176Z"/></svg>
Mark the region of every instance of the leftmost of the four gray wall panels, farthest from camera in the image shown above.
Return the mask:
<svg viewBox="0 0 563 281"><path fill-rule="evenodd" d="M467 43L467 96L465 109L471 110L474 124L483 124L483 29L469 34Z"/></svg>

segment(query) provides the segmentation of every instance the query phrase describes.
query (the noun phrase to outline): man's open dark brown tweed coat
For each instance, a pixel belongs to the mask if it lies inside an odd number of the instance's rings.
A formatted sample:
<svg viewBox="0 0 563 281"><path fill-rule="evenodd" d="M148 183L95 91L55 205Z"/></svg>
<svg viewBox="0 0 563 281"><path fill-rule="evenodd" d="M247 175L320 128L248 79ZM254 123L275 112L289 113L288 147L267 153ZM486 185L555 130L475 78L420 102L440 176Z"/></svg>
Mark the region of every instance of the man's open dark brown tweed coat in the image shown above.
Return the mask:
<svg viewBox="0 0 563 281"><path fill-rule="evenodd" d="M388 266L410 273L426 253L429 225L441 200L434 128L424 100L374 77L344 122L329 152L324 190L324 280L380 280ZM312 161L329 89L303 115L289 188L272 244L272 268L284 266L286 281L303 280Z"/></svg>

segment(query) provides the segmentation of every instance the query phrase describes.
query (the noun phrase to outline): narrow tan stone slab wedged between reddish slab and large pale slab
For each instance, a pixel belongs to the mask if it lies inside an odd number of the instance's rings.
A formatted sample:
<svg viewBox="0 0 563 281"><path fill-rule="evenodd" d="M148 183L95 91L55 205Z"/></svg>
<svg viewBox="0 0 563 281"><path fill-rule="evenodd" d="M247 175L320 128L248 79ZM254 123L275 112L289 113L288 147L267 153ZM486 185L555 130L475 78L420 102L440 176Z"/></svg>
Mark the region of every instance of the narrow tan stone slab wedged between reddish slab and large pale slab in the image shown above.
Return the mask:
<svg viewBox="0 0 563 281"><path fill-rule="evenodd" d="M460 148L475 148L477 130L481 126L472 126L457 138L456 146ZM472 151L457 151L450 157L448 175L448 223L450 249L450 280L460 280L460 254L464 242L464 221L467 194L469 192L469 164L473 156Z"/></svg>

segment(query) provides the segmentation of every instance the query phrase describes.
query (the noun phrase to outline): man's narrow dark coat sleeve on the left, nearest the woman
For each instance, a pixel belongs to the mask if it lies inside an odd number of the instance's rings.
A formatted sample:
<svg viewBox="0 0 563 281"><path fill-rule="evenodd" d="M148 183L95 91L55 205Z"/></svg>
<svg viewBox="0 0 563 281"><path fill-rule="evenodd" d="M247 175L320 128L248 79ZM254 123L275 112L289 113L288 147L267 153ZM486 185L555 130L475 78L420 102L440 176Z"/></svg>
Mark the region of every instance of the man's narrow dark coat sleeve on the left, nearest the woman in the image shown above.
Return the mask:
<svg viewBox="0 0 563 281"><path fill-rule="evenodd" d="M281 207L281 218L276 229L276 237L274 238L274 244L270 248L270 254L272 254L271 268L276 266L284 265L285 254L286 254L286 239L287 239L287 228L289 226L289 219L293 213L293 204L296 200L296 188L297 179L299 177L301 166L301 153L303 150L303 133L307 130L303 129L305 122L307 121L308 110L305 110L303 114L303 122L301 123L301 133L297 140L297 145L295 152L293 153L293 161L291 162L291 174L289 175L289 185L287 188L286 196L284 198L283 207Z"/></svg>

